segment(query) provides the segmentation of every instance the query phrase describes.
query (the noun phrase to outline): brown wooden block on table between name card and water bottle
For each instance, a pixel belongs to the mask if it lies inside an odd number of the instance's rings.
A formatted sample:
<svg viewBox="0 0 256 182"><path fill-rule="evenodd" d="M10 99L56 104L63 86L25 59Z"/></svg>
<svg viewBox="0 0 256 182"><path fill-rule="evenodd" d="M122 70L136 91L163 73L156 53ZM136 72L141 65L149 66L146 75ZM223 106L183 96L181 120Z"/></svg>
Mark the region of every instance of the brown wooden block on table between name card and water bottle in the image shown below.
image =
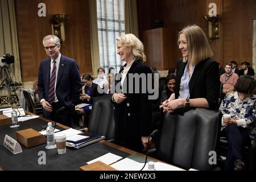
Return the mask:
<svg viewBox="0 0 256 182"><path fill-rule="evenodd" d="M46 137L33 129L16 131L16 139L27 148L46 143Z"/></svg>

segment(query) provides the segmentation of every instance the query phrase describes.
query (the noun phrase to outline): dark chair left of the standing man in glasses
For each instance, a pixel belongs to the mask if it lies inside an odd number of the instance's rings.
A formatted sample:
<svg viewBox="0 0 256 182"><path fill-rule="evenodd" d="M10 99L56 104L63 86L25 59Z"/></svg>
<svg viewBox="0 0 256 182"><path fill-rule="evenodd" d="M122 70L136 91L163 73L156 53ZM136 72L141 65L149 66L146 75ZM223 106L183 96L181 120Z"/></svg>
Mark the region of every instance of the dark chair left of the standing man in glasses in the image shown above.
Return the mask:
<svg viewBox="0 0 256 182"><path fill-rule="evenodd" d="M32 97L30 95L30 92L26 89L22 89L22 93L25 98L26 106L27 106L27 111L30 111L31 113L34 113L36 115L43 114L43 107L41 104L34 104Z"/></svg>

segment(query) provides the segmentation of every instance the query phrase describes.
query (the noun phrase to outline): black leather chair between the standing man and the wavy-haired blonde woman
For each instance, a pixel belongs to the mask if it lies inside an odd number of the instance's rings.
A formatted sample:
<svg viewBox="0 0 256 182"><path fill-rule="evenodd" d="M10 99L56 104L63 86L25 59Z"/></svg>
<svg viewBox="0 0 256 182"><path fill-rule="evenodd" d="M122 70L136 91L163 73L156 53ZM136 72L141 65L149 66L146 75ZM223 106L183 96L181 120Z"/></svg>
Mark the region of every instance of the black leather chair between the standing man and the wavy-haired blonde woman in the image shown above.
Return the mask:
<svg viewBox="0 0 256 182"><path fill-rule="evenodd" d="M104 135L106 140L114 140L114 106L110 102L113 94L106 94L93 99L88 131Z"/></svg>

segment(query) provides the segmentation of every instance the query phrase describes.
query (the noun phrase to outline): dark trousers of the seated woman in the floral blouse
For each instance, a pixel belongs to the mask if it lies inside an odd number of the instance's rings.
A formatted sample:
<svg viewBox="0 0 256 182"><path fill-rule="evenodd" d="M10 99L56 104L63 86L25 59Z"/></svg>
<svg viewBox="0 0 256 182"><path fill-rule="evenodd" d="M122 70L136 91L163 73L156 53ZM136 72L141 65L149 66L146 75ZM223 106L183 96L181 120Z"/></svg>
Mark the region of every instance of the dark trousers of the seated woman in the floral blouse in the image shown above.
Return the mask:
<svg viewBox="0 0 256 182"><path fill-rule="evenodd" d="M226 157L225 171L234 169L236 159L242 159L242 149L250 145L248 129L229 125L225 128L225 135L228 139L228 154Z"/></svg>

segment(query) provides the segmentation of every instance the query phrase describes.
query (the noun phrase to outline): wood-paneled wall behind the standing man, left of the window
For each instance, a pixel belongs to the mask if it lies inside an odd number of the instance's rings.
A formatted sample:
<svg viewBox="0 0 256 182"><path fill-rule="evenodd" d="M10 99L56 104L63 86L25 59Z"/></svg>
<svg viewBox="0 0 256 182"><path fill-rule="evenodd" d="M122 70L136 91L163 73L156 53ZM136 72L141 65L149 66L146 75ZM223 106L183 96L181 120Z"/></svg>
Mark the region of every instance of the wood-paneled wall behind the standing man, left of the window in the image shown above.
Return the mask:
<svg viewBox="0 0 256 182"><path fill-rule="evenodd" d="M38 16L38 4L46 4L46 17ZM23 81L38 77L40 61L47 58L42 39L51 31L53 14L70 14L65 26L66 43L61 53L79 64L81 75L92 74L89 6L86 0L15 0L16 21Z"/></svg>

